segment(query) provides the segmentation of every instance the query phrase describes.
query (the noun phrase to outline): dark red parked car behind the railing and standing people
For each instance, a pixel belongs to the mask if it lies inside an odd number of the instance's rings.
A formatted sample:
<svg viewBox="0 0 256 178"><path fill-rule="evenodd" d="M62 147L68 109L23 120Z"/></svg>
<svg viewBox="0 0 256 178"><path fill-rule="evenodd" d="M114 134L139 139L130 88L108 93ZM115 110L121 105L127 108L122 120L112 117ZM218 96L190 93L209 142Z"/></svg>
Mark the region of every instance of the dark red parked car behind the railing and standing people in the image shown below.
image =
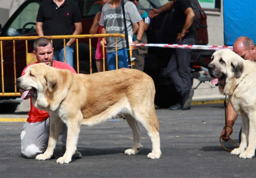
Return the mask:
<svg viewBox="0 0 256 178"><path fill-rule="evenodd" d="M96 3L99 0L75 0L79 5L82 14L82 33L89 34L90 27L93 23L95 14L100 11L101 4ZM0 37L12 36L37 36L35 31L36 16L38 9L43 0L26 0L9 18L3 26ZM140 0L139 9L151 11L151 8L158 8L167 3L168 0ZM194 34L196 36L196 44L207 45L207 16L197 0L191 0L193 10L195 12L195 20L193 23ZM148 43L173 43L171 37L172 31L172 12L160 14L151 19L151 23L147 30ZM33 51L34 40L28 40L28 52ZM95 49L97 39L92 39L92 71L97 72L95 63ZM89 40L79 39L79 72L84 74L90 73L90 51ZM25 41L18 40L15 42L16 49L16 75L20 77L23 69L26 67L26 45ZM74 69L77 69L76 62L76 45L73 45ZM207 67L212 56L212 51L193 50L191 67L192 72L198 72L200 69L193 69L194 65ZM145 55L145 70L148 75L154 79L156 86L155 103L160 107L167 107L177 103L177 91L172 85L172 81L166 76L165 71L169 59L172 55L172 49L149 47L148 54ZM14 92L14 70L13 70L13 43L3 41L3 72L4 72L4 91ZM192 78L193 80L193 78ZM0 78L0 83L2 79ZM2 92L2 87L0 87ZM14 99L17 97L1 97L3 99Z"/></svg>

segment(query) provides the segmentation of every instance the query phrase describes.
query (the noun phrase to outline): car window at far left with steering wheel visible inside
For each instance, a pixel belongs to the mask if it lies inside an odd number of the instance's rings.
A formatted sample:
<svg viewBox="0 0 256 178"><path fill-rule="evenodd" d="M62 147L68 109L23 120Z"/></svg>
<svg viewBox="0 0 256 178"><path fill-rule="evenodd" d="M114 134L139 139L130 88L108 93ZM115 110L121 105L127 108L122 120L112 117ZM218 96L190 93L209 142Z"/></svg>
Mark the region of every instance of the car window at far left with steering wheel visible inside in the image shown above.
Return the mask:
<svg viewBox="0 0 256 178"><path fill-rule="evenodd" d="M35 33L36 16L40 3L29 3L17 17L12 21L7 29L7 36Z"/></svg>

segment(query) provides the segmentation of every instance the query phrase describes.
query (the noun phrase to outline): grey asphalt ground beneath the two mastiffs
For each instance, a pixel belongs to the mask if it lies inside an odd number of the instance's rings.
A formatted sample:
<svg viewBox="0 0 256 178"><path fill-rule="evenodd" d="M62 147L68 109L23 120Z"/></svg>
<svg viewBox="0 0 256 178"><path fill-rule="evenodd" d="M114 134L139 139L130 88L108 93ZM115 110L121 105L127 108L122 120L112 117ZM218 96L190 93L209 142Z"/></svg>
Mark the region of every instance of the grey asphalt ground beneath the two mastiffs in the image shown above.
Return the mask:
<svg viewBox="0 0 256 178"><path fill-rule="evenodd" d="M24 122L0 122L0 178L230 178L256 177L256 158L239 159L219 143L224 127L223 104L193 105L188 111L156 109L160 121L162 157L148 159L152 144L142 129L143 149L125 155L133 135L128 123L119 119L99 125L81 126L77 149L83 157L69 164L57 159L37 161L21 158L20 133ZM1 114L0 118L23 118L26 113ZM231 135L238 142L241 117ZM228 148L235 148L229 141ZM55 155L60 156L59 139Z"/></svg>

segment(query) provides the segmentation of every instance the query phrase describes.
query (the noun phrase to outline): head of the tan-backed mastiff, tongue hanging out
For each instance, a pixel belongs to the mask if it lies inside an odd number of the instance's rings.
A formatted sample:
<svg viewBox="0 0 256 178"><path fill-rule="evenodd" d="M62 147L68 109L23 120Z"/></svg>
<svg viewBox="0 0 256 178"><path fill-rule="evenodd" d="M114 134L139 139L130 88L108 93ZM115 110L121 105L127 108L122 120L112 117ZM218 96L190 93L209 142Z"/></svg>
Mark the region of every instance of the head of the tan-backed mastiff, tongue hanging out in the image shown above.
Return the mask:
<svg viewBox="0 0 256 178"><path fill-rule="evenodd" d="M38 104L41 107L49 105L44 96L47 95L47 92L52 92L57 84L57 78L53 75L51 68L44 63L38 63L26 69L25 75L16 80L17 86L24 90L21 96L22 99L33 97L32 101L38 101L38 98L40 98ZM42 98L44 99L42 100Z"/></svg>

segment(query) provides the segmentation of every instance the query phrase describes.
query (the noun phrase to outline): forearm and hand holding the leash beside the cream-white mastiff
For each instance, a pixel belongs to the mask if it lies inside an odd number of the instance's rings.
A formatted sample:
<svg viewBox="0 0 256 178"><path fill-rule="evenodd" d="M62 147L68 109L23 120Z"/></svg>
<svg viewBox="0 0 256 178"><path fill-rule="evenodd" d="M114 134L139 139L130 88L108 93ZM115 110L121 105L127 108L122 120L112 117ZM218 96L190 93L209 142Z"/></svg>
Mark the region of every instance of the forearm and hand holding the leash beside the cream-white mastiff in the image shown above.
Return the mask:
<svg viewBox="0 0 256 178"><path fill-rule="evenodd" d="M228 104L227 104L227 125L230 125L230 126L233 127L237 116L238 116L238 114L236 114L236 111L232 107L231 103L228 102ZM224 132L225 132L225 129L221 132L221 135L224 134ZM226 128L226 132L227 132L226 137L224 137L224 135L223 135L222 140L229 141L229 137L230 137L230 134L231 134L230 127Z"/></svg>

